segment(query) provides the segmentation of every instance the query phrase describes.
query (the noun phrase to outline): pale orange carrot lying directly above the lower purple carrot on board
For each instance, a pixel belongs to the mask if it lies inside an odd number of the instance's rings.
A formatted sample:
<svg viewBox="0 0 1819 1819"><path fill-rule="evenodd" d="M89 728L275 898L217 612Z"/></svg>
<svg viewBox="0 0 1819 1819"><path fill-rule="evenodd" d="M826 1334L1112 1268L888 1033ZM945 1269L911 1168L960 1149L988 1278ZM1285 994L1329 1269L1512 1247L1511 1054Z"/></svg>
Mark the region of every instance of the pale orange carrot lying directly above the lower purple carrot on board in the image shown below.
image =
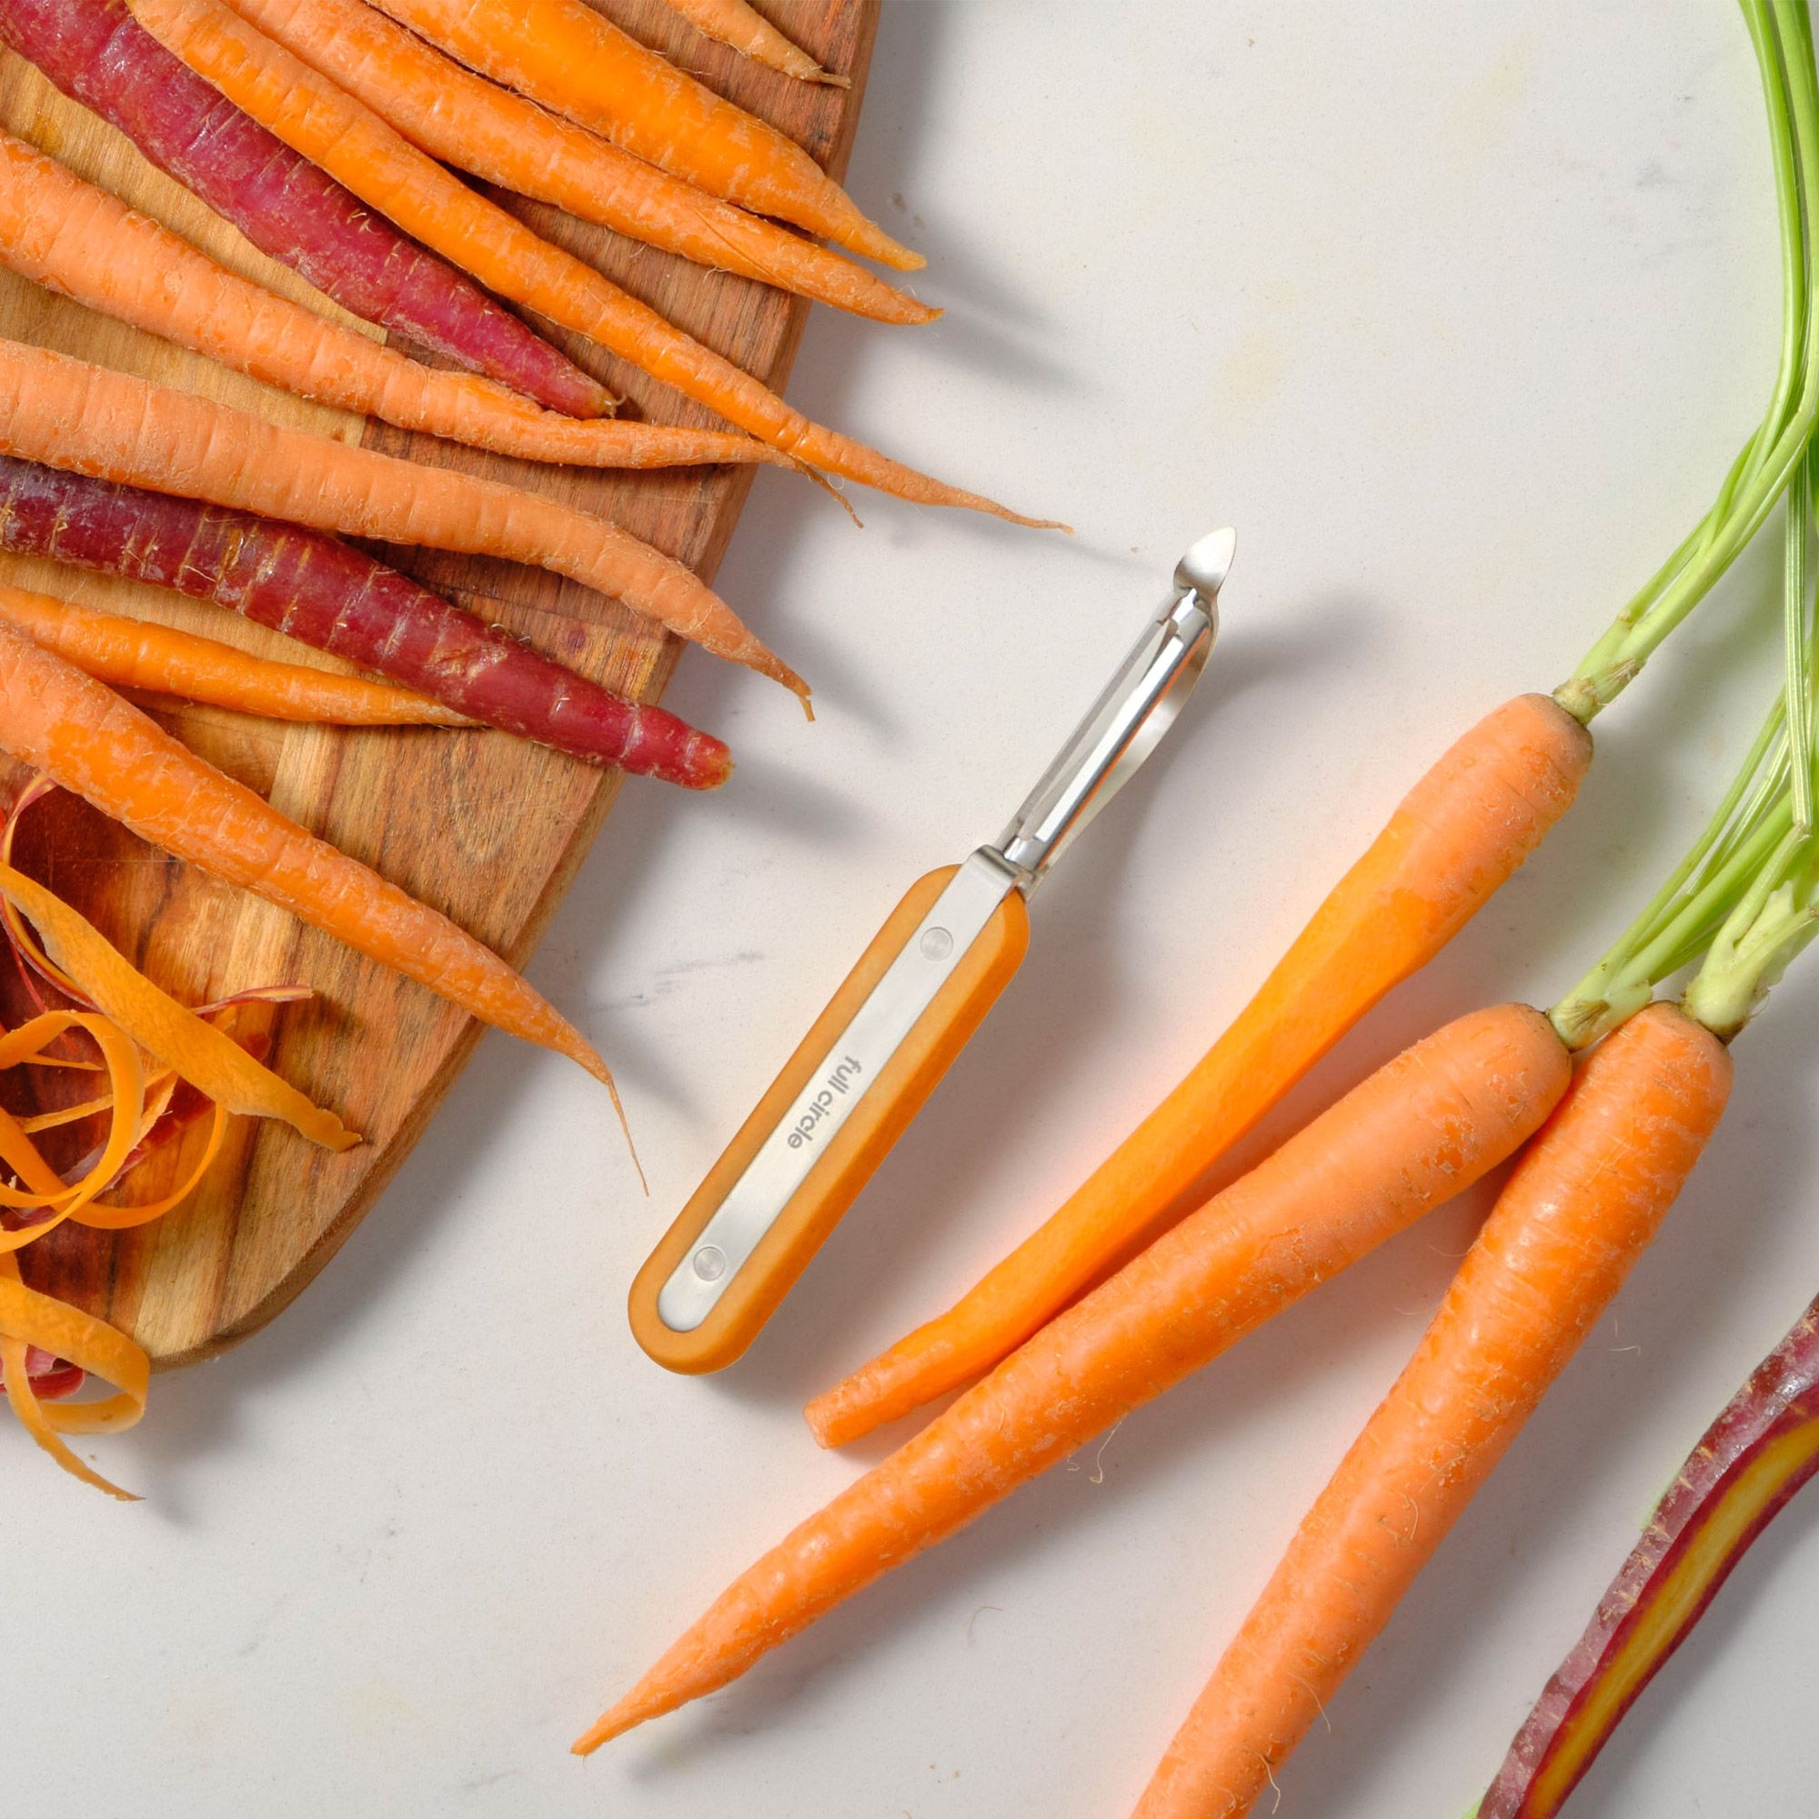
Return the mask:
<svg viewBox="0 0 1819 1819"><path fill-rule="evenodd" d="M318 531L533 562L618 595L702 649L808 697L808 684L680 562L606 518L515 486L282 429L9 340L0 340L0 453Z"/></svg>

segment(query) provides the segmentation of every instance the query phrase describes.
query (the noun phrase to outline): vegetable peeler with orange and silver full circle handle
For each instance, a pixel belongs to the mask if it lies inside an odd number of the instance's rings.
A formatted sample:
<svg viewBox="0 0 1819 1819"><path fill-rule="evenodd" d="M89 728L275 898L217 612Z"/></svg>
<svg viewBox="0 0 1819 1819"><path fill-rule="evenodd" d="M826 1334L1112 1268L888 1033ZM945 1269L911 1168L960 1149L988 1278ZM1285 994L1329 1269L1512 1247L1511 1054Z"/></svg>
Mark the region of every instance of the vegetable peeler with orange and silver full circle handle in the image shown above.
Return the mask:
<svg viewBox="0 0 1819 1819"><path fill-rule="evenodd" d="M631 1284L658 1364L731 1364L889 1153L1030 946L1028 899L1173 724L1206 668L1237 537L1175 591L993 846L910 886Z"/></svg>

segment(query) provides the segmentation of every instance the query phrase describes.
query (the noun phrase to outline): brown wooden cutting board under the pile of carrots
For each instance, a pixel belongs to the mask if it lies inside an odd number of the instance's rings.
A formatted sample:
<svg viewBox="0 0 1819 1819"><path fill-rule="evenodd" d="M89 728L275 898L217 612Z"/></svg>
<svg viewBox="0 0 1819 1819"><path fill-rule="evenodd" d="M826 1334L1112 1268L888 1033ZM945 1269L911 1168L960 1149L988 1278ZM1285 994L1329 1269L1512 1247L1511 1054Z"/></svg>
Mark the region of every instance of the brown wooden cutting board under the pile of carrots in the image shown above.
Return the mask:
<svg viewBox="0 0 1819 1819"><path fill-rule="evenodd" d="M602 11L719 93L775 122L839 175L859 116L879 0L764 4L824 67L851 75L851 89L809 87L760 69L693 33L662 0L602 0ZM222 264L315 307L333 307L153 171L111 127L5 53L0 53L0 122ZM671 322L773 387L782 386L806 304L702 271L555 209L498 200ZM49 296L7 271L0 271L0 333L280 422L513 480L604 511L708 578L726 553L753 475L749 467L648 475L537 467L369 426L227 373ZM628 415L715 422L577 337L555 338L628 397ZM673 638L540 569L427 551L384 555L622 693L653 700L675 668ZM329 662L233 613L153 588L9 557L0 557L0 580L160 618L247 649L282 651L293 662ZM764 628L757 629L762 635ZM176 706L158 713L196 751L444 910L513 962L522 962L535 946L620 784L617 773L504 733L278 728ZM20 773L5 760L0 768L0 791L11 800ZM642 779L633 788L669 789ZM739 788L737 779L729 788ZM671 795L673 813L695 808L684 791ZM140 846L85 806L53 799L33 809L24 826L24 862L178 997L202 1002L247 986L287 982L317 988L313 1002L276 1015L271 1062L366 1135L360 1148L331 1157L289 1130L236 1121L227 1151L180 1211L116 1237L65 1224L22 1253L27 1281L122 1326L158 1366L193 1362L264 1326L335 1255L424 1131L473 1050L478 1026L284 911ZM626 862L635 864L637 855L628 853ZM0 1010L15 1022L27 1006L9 959L0 962ZM564 1010L573 1015L578 1006ZM609 1031L588 1033L611 1051ZM604 1095L598 1111L598 1130L584 1141L597 1141L606 1151L618 1144L618 1133ZM149 1173L142 1182L147 1191L155 1186Z"/></svg>

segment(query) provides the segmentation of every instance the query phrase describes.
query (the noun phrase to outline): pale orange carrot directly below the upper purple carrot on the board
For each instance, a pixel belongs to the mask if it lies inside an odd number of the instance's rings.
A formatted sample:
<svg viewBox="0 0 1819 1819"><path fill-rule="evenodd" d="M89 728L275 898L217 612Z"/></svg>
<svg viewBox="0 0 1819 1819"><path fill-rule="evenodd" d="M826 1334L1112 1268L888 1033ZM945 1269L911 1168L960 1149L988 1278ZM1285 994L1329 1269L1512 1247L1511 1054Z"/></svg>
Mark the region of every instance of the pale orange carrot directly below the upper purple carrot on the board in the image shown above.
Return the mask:
<svg viewBox="0 0 1819 1819"><path fill-rule="evenodd" d="M267 386L497 455L575 467L795 466L751 437L577 420L538 409L489 378L420 366L216 266L9 133L0 133L0 260L35 284Z"/></svg>

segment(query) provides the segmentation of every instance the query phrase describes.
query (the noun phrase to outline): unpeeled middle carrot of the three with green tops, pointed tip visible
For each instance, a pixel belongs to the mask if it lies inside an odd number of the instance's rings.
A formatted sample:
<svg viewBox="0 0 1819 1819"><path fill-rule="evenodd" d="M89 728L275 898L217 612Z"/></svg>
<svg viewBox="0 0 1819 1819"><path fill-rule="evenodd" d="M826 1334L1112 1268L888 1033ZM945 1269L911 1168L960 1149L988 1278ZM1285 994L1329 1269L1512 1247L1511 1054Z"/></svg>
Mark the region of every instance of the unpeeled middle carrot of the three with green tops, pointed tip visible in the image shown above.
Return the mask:
<svg viewBox="0 0 1819 1819"><path fill-rule="evenodd" d="M575 1744L724 1686L1512 1155L1566 1091L1506 1004L1419 1042L811 1515Z"/></svg>

